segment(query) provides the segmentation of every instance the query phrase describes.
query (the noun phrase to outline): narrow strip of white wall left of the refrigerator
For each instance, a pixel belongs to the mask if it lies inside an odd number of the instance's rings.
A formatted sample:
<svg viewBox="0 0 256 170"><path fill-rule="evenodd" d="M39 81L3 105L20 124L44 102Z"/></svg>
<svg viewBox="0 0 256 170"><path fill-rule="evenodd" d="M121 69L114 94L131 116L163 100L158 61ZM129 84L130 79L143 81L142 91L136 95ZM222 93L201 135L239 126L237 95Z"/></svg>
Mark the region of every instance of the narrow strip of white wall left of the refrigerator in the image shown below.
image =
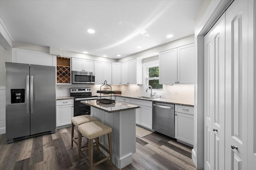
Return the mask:
<svg viewBox="0 0 256 170"><path fill-rule="evenodd" d="M12 50L5 50L0 45L0 134L5 128L5 62L12 62Z"/></svg>

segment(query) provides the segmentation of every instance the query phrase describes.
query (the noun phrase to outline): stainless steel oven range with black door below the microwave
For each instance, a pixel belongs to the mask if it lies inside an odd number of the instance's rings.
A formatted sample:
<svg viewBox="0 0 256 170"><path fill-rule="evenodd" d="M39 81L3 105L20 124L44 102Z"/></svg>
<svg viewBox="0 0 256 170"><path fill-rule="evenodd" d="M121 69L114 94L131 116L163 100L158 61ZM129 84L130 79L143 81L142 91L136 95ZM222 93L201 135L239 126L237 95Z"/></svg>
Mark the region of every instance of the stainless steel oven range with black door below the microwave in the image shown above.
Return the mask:
<svg viewBox="0 0 256 170"><path fill-rule="evenodd" d="M82 100L96 100L91 88L70 88L70 96L74 97L74 116L90 115L90 106L82 104Z"/></svg>

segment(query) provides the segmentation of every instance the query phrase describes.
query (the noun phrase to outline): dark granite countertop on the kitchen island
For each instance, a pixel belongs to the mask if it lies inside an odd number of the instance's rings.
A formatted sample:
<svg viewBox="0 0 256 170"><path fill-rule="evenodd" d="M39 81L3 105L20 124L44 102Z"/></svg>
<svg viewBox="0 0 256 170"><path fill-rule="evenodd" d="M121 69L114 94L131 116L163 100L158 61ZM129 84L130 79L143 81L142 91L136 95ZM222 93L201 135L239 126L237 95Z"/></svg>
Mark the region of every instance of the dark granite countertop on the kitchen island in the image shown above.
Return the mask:
<svg viewBox="0 0 256 170"><path fill-rule="evenodd" d="M106 111L108 113L140 108L140 106L136 106L133 104L121 104L119 102L116 102L116 104L102 104L102 103L96 102L96 100L84 100L84 101L81 101L81 103Z"/></svg>

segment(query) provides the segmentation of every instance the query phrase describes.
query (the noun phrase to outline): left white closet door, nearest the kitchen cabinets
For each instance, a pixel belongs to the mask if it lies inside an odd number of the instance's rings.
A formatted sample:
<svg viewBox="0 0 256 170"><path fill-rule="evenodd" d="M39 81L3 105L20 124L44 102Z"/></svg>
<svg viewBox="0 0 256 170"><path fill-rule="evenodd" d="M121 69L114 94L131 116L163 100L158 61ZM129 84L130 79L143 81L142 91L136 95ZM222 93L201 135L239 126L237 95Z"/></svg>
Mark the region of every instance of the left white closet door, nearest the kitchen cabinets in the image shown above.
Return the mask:
<svg viewBox="0 0 256 170"><path fill-rule="evenodd" d="M225 14L204 37L204 169L225 162Z"/></svg>

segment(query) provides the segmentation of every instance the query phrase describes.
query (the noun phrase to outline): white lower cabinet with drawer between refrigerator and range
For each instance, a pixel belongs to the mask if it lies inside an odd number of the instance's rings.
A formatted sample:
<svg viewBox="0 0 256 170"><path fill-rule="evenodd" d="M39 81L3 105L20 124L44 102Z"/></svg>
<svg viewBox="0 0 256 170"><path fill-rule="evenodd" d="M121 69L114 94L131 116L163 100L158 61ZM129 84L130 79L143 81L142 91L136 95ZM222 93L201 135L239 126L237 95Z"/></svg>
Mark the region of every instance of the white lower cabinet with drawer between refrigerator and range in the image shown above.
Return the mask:
<svg viewBox="0 0 256 170"><path fill-rule="evenodd" d="M58 100L56 111L56 127L71 124L74 116L74 100Z"/></svg>

